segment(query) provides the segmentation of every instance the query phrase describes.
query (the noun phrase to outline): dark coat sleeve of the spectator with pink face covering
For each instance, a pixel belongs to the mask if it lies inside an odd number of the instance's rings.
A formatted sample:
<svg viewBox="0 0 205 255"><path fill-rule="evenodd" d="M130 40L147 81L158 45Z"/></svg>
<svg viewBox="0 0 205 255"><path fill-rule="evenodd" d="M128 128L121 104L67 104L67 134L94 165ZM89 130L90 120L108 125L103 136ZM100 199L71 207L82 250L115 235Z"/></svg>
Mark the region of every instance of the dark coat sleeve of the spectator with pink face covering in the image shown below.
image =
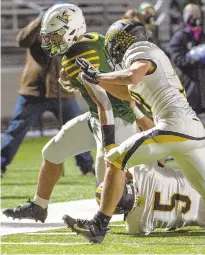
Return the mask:
<svg viewBox="0 0 205 255"><path fill-rule="evenodd" d="M169 42L169 54L172 62L179 68L191 67L192 64L186 59L185 38L182 32L175 33Z"/></svg>

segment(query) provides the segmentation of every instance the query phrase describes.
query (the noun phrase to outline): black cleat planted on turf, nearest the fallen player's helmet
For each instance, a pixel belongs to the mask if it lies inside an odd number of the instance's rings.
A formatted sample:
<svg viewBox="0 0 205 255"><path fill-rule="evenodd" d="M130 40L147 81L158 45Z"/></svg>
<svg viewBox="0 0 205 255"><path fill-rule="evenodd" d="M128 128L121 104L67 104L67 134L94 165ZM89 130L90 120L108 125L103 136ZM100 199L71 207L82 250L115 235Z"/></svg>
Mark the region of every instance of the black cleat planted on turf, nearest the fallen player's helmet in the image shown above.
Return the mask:
<svg viewBox="0 0 205 255"><path fill-rule="evenodd" d="M84 236L90 243L102 243L108 230L102 228L101 222L97 220L74 219L64 215L63 221L68 228Z"/></svg>

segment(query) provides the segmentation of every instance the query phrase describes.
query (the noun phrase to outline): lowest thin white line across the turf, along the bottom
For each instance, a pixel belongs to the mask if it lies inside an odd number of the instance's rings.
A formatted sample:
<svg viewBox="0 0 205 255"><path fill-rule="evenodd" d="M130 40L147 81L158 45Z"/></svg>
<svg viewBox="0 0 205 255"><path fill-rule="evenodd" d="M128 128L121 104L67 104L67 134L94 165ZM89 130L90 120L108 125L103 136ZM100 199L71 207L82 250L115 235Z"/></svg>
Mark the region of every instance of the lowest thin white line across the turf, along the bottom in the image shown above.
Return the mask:
<svg viewBox="0 0 205 255"><path fill-rule="evenodd" d="M1 245L5 244L5 245L57 245L57 246L72 246L72 245L92 245L89 242L86 243L41 243L41 242L1 242ZM200 245L200 246L205 246L205 243L156 243L156 242L147 242L147 243L142 243L142 242L104 242L103 244L117 244L117 245L122 245L122 244L132 244L132 245L156 245L156 244L160 244L160 245Z"/></svg>

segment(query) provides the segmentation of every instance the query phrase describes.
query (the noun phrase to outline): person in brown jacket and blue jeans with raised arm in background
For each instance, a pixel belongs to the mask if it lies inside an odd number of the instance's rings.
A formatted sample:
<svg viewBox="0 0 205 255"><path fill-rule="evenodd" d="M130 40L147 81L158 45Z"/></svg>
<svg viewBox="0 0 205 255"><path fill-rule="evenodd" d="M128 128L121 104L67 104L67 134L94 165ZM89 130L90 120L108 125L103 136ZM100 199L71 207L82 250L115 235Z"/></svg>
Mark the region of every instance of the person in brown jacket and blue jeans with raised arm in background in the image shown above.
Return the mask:
<svg viewBox="0 0 205 255"><path fill-rule="evenodd" d="M20 47L27 48L26 65L21 76L20 95L14 116L2 135L1 176L15 156L26 132L40 120L43 112L50 111L60 119L60 101L63 124L80 114L74 94L65 91L58 83L60 57L52 59L41 48L39 32L43 13L22 29L16 37ZM89 152L77 155L75 159L82 174L88 172L94 174L93 159Z"/></svg>

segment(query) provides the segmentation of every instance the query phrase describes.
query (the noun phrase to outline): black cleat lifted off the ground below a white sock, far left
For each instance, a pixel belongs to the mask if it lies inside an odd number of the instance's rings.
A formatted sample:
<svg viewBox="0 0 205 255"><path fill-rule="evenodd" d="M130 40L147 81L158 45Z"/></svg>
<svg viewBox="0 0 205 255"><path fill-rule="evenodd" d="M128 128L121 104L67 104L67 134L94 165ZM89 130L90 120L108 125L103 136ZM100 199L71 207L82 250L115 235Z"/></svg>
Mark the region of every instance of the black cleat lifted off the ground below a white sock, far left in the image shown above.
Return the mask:
<svg viewBox="0 0 205 255"><path fill-rule="evenodd" d="M39 220L44 223L47 218L47 208L43 209L30 200L28 200L25 205L18 206L16 208L4 209L2 210L2 213L7 217L12 217L13 220L33 219L36 222Z"/></svg>

